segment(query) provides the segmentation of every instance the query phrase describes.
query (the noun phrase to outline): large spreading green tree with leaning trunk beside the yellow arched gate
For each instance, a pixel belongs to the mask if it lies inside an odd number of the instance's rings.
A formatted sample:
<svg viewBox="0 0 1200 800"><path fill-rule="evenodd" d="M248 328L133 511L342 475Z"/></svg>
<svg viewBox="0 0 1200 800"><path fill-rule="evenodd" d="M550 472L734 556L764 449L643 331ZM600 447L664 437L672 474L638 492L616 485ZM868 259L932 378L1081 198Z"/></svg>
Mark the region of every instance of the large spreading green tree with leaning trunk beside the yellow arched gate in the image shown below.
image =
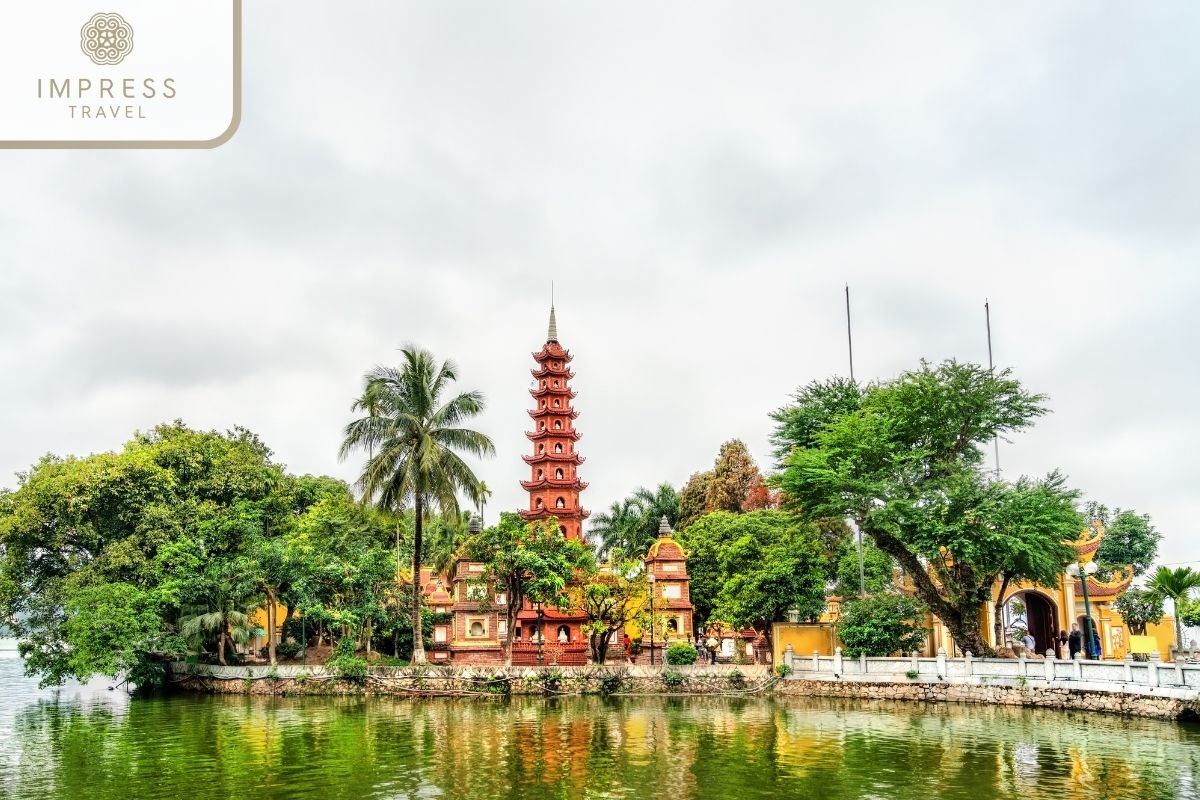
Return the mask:
<svg viewBox="0 0 1200 800"><path fill-rule="evenodd" d="M923 363L870 386L787 458L780 485L812 518L852 518L912 579L959 646L979 630L997 579L1054 583L1082 519L1061 475L988 480L983 449L1046 413L1008 371Z"/></svg>

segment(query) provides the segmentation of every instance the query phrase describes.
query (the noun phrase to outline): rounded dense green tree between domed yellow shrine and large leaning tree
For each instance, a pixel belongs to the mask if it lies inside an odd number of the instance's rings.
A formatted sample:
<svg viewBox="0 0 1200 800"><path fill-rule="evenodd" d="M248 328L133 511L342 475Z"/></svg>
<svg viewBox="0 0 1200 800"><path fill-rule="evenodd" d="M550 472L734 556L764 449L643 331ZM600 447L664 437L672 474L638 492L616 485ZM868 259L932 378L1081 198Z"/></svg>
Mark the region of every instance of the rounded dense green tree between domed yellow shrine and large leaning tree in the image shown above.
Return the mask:
<svg viewBox="0 0 1200 800"><path fill-rule="evenodd" d="M715 615L734 627L769 630L791 608L816 619L826 606L824 559L815 527L784 511L752 511L732 521L720 554Z"/></svg>

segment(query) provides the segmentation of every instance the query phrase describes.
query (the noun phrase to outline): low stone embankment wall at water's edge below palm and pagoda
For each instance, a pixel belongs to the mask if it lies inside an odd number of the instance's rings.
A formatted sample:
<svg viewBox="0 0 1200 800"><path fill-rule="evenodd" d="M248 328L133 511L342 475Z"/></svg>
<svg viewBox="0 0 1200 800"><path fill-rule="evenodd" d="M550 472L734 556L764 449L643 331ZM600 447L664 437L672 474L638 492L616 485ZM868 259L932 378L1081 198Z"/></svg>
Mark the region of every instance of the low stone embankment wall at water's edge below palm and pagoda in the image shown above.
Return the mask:
<svg viewBox="0 0 1200 800"><path fill-rule="evenodd" d="M778 682L764 666L695 667L372 667L346 680L324 667L170 664L185 691L221 694L389 694L487 697L506 694L755 696Z"/></svg>

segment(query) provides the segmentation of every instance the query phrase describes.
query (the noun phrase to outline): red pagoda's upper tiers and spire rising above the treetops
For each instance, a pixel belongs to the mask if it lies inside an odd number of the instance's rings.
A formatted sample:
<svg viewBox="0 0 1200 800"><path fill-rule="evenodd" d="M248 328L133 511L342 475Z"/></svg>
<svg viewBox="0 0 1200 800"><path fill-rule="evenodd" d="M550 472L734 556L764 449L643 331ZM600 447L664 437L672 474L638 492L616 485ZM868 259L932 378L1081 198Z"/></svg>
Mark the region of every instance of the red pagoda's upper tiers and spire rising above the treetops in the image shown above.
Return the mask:
<svg viewBox="0 0 1200 800"><path fill-rule="evenodd" d="M578 465L583 456L575 451L580 433L575 419L580 415L571 407L575 392L570 381L575 377L568 365L571 354L558 342L554 307L550 308L550 330L546 344L533 354L538 368L533 371L535 385L529 390L536 407L529 411L534 429L526 433L533 443L533 455L523 456L529 464L529 480L521 487L529 493L529 509L521 512L526 519L558 519L568 539L583 540L583 521L590 512L580 506L580 492L587 483L580 480Z"/></svg>

